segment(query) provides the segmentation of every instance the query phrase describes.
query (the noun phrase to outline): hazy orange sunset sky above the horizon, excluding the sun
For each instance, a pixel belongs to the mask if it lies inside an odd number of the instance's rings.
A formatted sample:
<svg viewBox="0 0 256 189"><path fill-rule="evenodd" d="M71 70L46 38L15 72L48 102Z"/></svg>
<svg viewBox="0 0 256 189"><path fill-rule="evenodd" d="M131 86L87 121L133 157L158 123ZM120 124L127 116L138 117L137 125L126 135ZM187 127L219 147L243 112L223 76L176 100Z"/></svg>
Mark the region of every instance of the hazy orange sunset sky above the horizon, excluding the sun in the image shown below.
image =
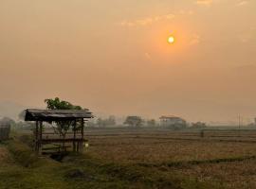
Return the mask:
<svg viewBox="0 0 256 189"><path fill-rule="evenodd" d="M255 0L0 0L0 102L256 116ZM167 43L174 36L173 44Z"/></svg>

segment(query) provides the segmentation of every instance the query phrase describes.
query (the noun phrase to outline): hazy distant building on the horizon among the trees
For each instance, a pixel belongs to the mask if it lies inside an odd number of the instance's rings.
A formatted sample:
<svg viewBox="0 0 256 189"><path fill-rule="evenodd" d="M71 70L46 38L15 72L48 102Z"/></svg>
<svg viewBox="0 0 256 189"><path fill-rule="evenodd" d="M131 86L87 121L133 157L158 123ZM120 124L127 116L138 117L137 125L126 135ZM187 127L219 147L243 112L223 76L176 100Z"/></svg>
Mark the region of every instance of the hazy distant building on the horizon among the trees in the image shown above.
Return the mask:
<svg viewBox="0 0 256 189"><path fill-rule="evenodd" d="M159 117L160 126L162 127L174 127L174 128L185 128L186 121L180 117L174 115L163 115Z"/></svg>

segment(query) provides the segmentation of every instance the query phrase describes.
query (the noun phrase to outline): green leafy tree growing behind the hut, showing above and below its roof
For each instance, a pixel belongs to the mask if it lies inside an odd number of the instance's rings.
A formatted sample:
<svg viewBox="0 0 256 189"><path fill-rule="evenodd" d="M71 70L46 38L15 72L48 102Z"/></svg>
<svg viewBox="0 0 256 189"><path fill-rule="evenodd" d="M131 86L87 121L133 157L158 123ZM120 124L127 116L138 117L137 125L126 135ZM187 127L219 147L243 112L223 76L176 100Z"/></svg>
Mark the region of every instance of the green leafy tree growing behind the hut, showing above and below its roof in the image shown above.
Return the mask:
<svg viewBox="0 0 256 189"><path fill-rule="evenodd" d="M76 106L71 104L70 102L60 100L59 97L55 97L54 99L48 98L45 99L47 109L49 110L82 110L81 106ZM55 132L59 133L60 135L65 138L66 132L73 127L75 129L75 121L54 121L56 127L53 127ZM80 129L80 126L76 126L76 129ZM63 144L64 145L64 144Z"/></svg>

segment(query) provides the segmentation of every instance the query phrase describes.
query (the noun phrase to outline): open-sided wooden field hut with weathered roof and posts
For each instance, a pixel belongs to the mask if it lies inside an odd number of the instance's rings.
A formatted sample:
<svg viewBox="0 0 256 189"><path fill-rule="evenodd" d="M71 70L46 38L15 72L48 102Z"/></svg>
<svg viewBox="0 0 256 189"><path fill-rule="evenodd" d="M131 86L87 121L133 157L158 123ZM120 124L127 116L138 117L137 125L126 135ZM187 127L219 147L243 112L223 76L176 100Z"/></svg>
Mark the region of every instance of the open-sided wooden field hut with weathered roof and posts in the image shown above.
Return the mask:
<svg viewBox="0 0 256 189"><path fill-rule="evenodd" d="M25 121L34 121L34 143L35 150L42 154L42 149L46 144L73 144L73 151L82 151L84 140L83 129L84 121L93 118L92 112L88 110L36 110L27 109L25 113ZM72 134L67 137L58 138L45 137L43 123L47 124L69 124L72 125ZM69 130L70 131L70 130ZM56 148L66 150L67 146L58 145ZM52 147L53 148L53 147Z"/></svg>

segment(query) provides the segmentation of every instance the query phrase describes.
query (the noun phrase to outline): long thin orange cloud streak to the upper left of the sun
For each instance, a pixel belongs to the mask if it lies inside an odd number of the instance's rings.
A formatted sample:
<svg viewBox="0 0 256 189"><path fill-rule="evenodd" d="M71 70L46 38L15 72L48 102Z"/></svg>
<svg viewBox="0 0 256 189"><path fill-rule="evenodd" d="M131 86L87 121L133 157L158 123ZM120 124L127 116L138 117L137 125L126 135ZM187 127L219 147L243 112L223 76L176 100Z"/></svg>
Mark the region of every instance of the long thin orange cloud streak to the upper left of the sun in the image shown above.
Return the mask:
<svg viewBox="0 0 256 189"><path fill-rule="evenodd" d="M155 17L147 17L143 19L137 19L134 21L122 21L120 23L121 26L148 26L152 25L155 22L163 21L163 20L172 20L174 19L175 15L174 14L165 14L165 15L160 15L160 16L155 16Z"/></svg>

